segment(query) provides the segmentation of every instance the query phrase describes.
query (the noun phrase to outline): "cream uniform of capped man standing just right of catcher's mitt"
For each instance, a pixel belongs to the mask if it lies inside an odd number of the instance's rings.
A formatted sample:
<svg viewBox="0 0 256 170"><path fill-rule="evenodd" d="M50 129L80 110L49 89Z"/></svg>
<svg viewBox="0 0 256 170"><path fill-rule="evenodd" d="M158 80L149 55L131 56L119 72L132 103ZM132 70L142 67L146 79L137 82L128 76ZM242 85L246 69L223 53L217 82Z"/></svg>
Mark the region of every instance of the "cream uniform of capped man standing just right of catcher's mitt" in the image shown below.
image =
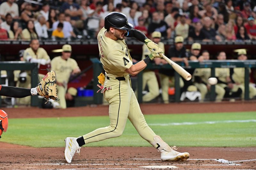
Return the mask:
<svg viewBox="0 0 256 170"><path fill-rule="evenodd" d="M52 70L56 72L56 81L60 82L64 85L60 86L57 85L57 91L58 91L58 97L60 99L60 107L66 108L66 99L65 94L68 87L68 80L72 73L72 71L76 68L79 68L76 60L72 58L68 58L67 60L64 60L61 58L61 56L55 57L52 59L51 62Z"/></svg>

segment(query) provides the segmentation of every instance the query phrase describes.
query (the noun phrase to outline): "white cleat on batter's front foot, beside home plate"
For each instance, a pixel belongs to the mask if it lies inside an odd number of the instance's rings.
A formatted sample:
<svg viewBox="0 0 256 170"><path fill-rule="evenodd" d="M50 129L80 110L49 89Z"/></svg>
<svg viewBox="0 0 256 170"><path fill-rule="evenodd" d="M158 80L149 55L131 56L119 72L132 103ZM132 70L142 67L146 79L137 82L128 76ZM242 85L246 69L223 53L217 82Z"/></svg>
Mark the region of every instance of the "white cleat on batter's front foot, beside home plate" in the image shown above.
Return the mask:
<svg viewBox="0 0 256 170"><path fill-rule="evenodd" d="M184 161L187 160L189 158L189 153L188 152L177 152L175 150L177 150L176 146L172 146L172 151L171 152L167 152L164 150L161 150L161 160L162 161Z"/></svg>

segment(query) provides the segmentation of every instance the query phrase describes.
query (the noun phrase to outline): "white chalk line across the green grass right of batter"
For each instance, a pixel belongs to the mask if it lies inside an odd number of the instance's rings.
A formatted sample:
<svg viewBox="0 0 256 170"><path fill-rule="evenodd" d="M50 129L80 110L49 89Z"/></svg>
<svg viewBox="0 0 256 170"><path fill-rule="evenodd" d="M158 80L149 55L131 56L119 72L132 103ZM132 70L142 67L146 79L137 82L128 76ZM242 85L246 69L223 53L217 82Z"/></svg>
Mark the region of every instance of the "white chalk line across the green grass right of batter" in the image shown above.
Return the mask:
<svg viewBox="0 0 256 170"><path fill-rule="evenodd" d="M180 126L180 125L216 124L216 123L248 123L248 122L256 122L256 120L249 119L249 120L206 121L206 122L148 123L148 125L150 125L150 126Z"/></svg>

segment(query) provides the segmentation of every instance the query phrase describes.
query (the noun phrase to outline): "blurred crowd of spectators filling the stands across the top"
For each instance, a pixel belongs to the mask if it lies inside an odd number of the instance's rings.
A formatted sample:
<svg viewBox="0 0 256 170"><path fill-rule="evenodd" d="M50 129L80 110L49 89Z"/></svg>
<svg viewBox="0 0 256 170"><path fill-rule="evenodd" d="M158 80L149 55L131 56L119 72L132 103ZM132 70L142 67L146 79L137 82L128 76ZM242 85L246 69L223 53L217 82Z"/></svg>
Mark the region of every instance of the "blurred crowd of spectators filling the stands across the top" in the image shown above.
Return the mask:
<svg viewBox="0 0 256 170"><path fill-rule="evenodd" d="M252 0L7 0L0 1L0 39L90 39L112 11L124 13L146 35L162 39L256 39Z"/></svg>

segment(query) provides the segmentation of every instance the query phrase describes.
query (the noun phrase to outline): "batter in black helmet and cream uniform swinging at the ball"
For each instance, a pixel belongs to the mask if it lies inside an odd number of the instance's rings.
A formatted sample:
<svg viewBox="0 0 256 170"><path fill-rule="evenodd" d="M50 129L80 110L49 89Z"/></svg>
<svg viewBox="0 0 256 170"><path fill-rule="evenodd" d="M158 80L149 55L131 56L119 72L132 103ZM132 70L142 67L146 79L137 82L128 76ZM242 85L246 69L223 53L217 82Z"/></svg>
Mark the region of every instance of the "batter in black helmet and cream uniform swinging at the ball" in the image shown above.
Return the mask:
<svg viewBox="0 0 256 170"><path fill-rule="evenodd" d="M152 53L144 60L133 65L124 36L135 37L144 42L152 50ZM157 44L149 40L143 33L132 29L127 17L120 12L110 12L105 17L104 28L98 33L97 39L100 61L106 75L103 86L108 90L105 90L103 95L109 103L110 125L96 129L81 137L67 137L65 139L66 161L71 163L74 154L79 153L81 146L84 144L122 135L127 118L132 122L140 136L161 152L162 160L188 159L188 152L175 151L176 147L170 147L148 127L131 87L130 75L138 74L154 58L161 57L159 53L163 50L158 48Z"/></svg>

